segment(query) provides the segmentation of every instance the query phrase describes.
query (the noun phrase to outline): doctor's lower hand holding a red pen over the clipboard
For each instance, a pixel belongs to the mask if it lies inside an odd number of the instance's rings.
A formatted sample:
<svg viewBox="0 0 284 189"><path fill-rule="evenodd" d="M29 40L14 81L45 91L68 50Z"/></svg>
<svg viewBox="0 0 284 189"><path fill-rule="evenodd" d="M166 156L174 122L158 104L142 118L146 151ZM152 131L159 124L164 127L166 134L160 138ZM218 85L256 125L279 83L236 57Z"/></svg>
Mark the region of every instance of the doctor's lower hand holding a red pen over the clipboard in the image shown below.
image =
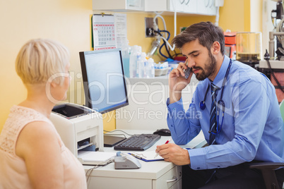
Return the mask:
<svg viewBox="0 0 284 189"><path fill-rule="evenodd" d="M157 146L155 152L159 153L160 157L164 158L165 161L170 161L176 165L190 164L189 152L178 145L172 143L160 145Z"/></svg>

